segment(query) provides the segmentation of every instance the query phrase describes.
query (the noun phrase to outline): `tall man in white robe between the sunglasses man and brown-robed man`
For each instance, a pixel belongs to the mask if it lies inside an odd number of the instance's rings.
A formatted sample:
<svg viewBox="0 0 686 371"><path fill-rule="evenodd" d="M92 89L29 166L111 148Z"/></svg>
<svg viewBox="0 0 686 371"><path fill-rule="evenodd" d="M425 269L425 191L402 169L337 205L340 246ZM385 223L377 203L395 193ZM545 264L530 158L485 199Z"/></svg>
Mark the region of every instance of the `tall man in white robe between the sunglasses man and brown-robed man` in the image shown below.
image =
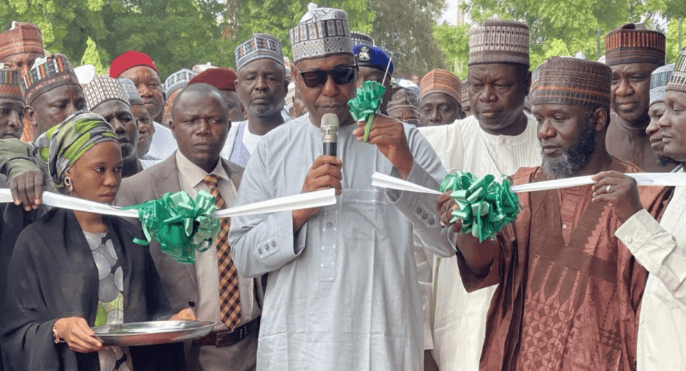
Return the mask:
<svg viewBox="0 0 686 371"><path fill-rule="evenodd" d="M473 116L419 129L448 172L498 177L540 165L536 119L523 111L531 84L529 28L500 19L472 28L467 80ZM467 293L455 259L433 265L432 356L441 371L477 370L495 287Z"/></svg>

